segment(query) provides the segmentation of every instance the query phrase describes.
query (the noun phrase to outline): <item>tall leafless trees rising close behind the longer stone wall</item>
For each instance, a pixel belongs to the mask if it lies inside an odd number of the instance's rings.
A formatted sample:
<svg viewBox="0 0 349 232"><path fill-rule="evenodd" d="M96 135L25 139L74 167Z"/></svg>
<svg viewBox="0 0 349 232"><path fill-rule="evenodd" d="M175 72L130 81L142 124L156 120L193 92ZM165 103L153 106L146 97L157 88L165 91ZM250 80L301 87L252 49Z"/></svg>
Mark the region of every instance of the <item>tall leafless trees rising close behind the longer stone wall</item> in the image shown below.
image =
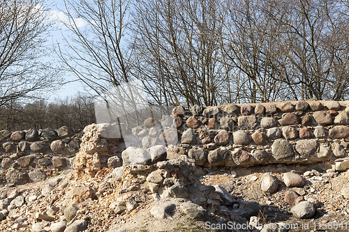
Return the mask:
<svg viewBox="0 0 349 232"><path fill-rule="evenodd" d="M154 105L346 100L348 10L334 0L66 0L74 43L58 50L97 95L137 79Z"/></svg>

